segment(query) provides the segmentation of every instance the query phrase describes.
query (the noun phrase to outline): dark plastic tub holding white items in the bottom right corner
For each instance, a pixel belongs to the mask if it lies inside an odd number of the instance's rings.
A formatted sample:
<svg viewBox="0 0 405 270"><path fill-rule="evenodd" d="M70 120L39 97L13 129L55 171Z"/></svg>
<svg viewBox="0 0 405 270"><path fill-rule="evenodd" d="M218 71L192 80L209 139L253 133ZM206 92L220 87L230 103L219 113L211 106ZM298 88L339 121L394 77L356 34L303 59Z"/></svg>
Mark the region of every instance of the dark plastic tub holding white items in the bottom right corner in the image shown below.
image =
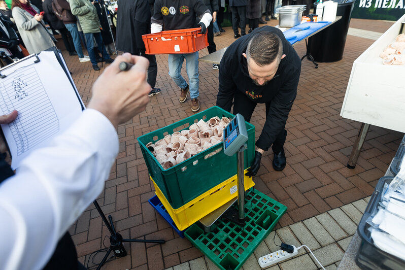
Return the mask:
<svg viewBox="0 0 405 270"><path fill-rule="evenodd" d="M394 178L391 176L380 178L357 228L361 244L357 251L356 263L362 269L405 269L405 261L374 246L373 239L368 230L370 225L366 223L370 215L377 210L384 184L391 183L392 179Z"/></svg>

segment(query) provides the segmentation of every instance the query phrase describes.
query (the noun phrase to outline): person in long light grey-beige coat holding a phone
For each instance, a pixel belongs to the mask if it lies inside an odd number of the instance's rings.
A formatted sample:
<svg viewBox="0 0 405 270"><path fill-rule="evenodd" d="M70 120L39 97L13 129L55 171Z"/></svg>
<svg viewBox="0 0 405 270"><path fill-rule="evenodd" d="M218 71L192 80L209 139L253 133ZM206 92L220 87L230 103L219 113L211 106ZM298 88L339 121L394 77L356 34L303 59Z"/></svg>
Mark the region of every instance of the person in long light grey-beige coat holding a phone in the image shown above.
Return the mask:
<svg viewBox="0 0 405 270"><path fill-rule="evenodd" d="M43 16L38 14L38 8L32 6L29 0L13 0L11 9L28 53L39 53L55 46L42 21Z"/></svg>

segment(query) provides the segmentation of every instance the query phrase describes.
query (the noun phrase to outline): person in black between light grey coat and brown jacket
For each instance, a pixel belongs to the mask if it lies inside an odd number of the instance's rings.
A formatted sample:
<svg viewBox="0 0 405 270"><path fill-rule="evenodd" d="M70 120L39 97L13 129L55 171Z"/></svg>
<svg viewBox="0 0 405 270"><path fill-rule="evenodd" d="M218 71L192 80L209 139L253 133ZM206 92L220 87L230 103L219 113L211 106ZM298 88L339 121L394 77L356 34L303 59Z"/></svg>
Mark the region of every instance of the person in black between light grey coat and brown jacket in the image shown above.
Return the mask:
<svg viewBox="0 0 405 270"><path fill-rule="evenodd" d="M73 44L71 34L64 26L64 23L61 20L59 20L58 17L56 17L55 13L53 12L52 0L44 0L42 2L42 8L45 12L44 17L46 21L49 22L50 25L52 25L53 29L58 30L60 32L64 47L69 52L69 55L70 56L77 55L77 53L75 52L75 45Z"/></svg>

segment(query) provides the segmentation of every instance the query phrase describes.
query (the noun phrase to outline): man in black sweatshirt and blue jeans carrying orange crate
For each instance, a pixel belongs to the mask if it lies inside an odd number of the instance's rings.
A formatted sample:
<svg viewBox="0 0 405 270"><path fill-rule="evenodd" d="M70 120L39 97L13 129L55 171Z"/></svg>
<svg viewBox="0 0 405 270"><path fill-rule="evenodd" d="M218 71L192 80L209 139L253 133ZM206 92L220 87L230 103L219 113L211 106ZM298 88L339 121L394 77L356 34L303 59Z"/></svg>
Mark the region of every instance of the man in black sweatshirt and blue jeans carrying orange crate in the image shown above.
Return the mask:
<svg viewBox="0 0 405 270"><path fill-rule="evenodd" d="M196 24L195 18L200 21ZM211 12L200 0L156 0L154 14L151 19L151 33L162 30L188 29L201 27L201 33L207 32L212 20ZM181 76L181 67L186 59L186 70L189 84ZM198 51L194 53L179 53L168 55L169 75L180 87L180 103L187 99L188 92L191 97L191 111L199 110L198 102Z"/></svg>

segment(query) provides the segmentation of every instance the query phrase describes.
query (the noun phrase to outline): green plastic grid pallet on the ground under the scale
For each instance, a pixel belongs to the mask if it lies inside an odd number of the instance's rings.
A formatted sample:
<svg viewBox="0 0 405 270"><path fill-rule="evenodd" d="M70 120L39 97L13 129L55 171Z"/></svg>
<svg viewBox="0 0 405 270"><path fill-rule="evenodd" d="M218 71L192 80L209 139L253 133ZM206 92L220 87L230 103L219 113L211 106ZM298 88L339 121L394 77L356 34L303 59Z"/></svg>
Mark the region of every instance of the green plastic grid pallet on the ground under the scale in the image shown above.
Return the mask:
<svg viewBox="0 0 405 270"><path fill-rule="evenodd" d="M237 209L237 204L233 204ZM220 269L235 270L245 261L272 231L287 207L253 188L246 191L246 225L241 226L220 218L211 232L197 223L185 230L185 237Z"/></svg>

